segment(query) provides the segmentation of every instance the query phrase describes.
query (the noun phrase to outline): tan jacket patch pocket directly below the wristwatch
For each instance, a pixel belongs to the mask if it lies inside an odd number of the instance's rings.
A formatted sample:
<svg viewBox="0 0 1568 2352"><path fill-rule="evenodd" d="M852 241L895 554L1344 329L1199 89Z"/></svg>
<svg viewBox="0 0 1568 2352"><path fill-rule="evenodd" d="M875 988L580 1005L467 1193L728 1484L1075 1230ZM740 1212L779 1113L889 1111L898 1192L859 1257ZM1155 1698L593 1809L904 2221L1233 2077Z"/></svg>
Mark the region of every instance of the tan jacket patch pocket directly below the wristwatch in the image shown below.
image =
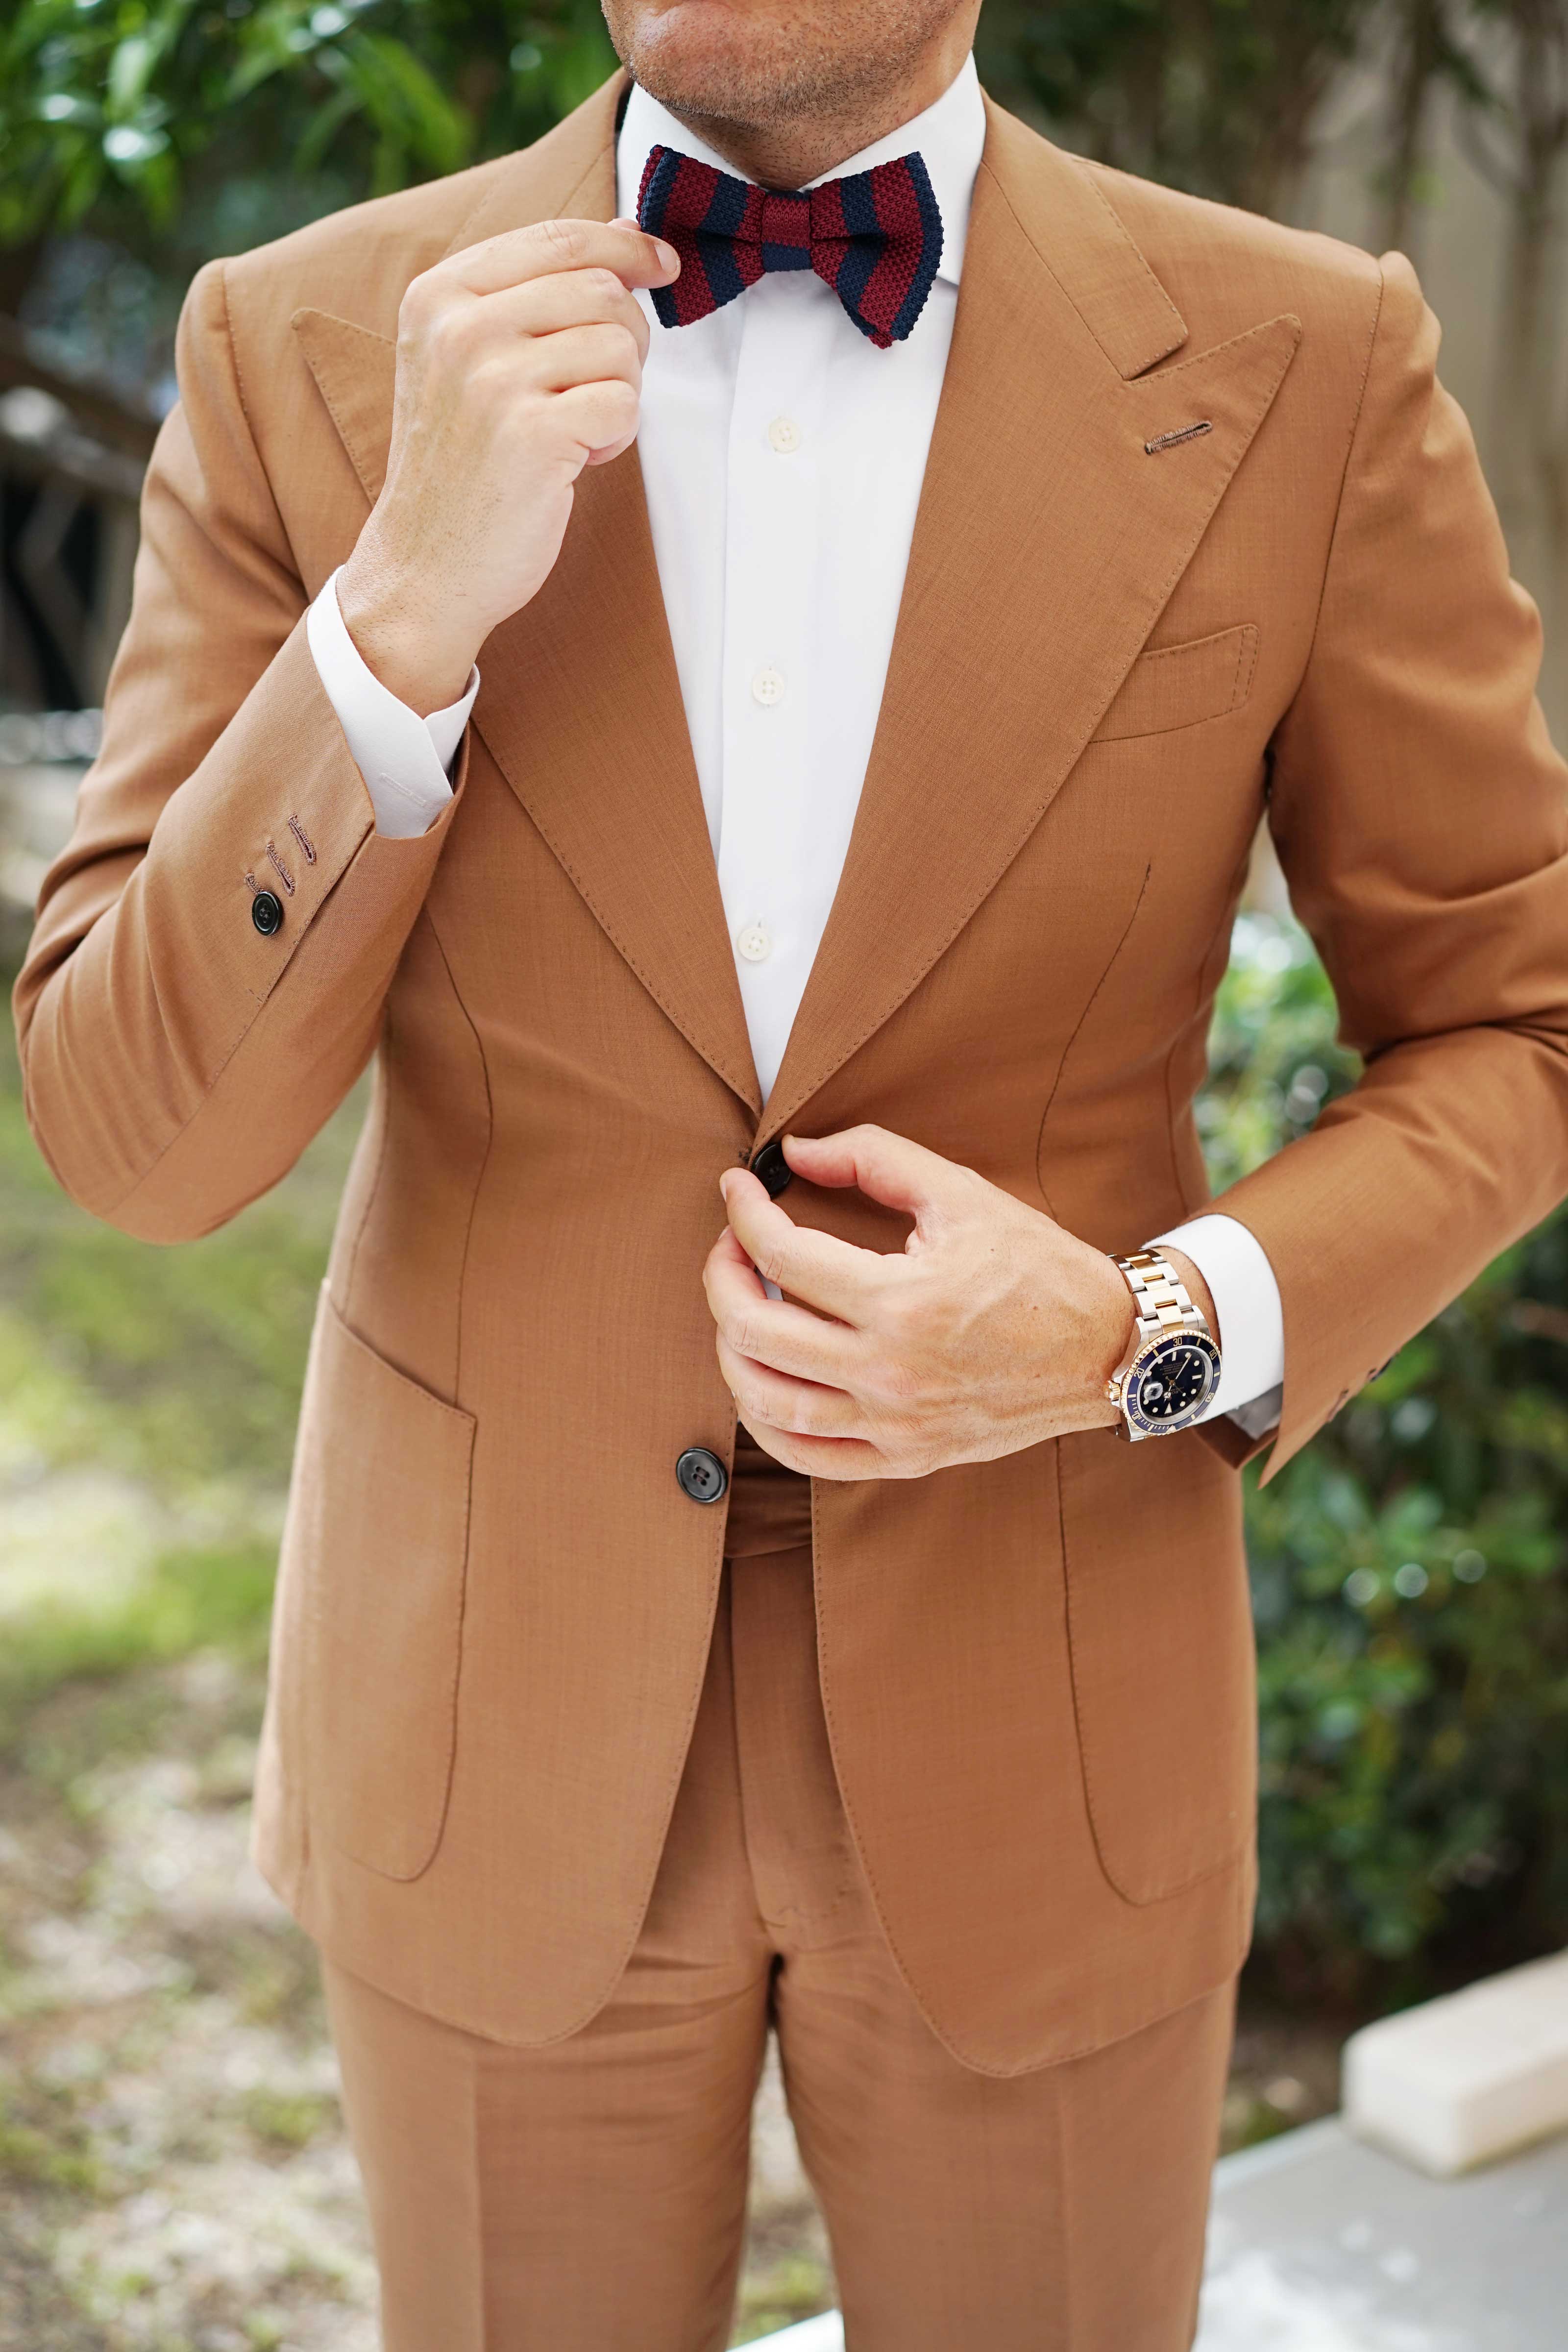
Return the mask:
<svg viewBox="0 0 1568 2352"><path fill-rule="evenodd" d="M1246 1853L1258 1700L1241 1479L1197 1435L1060 1442L1067 1649L1100 1870L1159 1903Z"/></svg>

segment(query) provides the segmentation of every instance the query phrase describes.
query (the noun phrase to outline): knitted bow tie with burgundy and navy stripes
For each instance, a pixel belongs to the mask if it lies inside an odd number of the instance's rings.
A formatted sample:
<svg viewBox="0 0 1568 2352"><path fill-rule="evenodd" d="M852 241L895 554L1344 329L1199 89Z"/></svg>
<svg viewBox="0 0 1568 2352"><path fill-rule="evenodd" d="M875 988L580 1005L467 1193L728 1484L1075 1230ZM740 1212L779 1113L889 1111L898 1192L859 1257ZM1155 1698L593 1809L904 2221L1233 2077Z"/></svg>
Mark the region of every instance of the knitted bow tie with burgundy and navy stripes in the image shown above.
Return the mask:
<svg viewBox="0 0 1568 2352"><path fill-rule="evenodd" d="M637 221L682 259L672 287L654 287L665 327L691 327L764 270L816 270L879 350L903 343L943 259L943 216L919 155L780 193L656 146L637 193Z"/></svg>

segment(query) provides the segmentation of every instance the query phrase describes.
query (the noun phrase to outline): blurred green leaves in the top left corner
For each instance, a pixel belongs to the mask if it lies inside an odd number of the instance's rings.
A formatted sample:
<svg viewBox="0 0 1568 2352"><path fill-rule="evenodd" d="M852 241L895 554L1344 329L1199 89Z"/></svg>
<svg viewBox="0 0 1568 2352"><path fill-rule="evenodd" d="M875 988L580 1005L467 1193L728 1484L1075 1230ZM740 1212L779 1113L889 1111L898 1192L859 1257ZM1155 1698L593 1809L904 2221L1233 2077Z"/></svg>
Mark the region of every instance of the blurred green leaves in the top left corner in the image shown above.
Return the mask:
<svg viewBox="0 0 1568 2352"><path fill-rule="evenodd" d="M0 0L0 242L87 223L188 268L249 176L315 183L306 212L381 195L611 68L590 0Z"/></svg>

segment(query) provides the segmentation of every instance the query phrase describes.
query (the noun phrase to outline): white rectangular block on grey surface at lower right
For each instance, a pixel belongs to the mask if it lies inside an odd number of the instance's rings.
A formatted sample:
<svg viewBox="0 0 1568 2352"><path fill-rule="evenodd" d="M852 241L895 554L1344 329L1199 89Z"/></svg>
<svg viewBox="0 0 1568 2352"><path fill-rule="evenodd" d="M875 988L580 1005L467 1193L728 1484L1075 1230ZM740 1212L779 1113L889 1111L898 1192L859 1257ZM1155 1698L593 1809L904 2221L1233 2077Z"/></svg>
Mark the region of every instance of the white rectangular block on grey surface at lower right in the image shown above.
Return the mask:
<svg viewBox="0 0 1568 2352"><path fill-rule="evenodd" d="M1568 2129L1568 1952L1352 2034L1345 2122L1436 2178Z"/></svg>

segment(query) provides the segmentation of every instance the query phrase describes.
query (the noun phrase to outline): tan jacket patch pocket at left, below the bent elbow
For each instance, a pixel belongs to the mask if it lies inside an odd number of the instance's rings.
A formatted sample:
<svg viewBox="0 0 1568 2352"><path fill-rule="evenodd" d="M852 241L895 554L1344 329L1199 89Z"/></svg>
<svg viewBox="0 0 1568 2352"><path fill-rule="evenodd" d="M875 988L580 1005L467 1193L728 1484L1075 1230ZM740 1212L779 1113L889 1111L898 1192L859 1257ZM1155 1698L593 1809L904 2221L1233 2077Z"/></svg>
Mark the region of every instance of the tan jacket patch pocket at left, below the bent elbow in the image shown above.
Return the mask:
<svg viewBox="0 0 1568 2352"><path fill-rule="evenodd" d="M473 1435L322 1284L284 1538L308 1592L308 1809L388 1879L430 1867L447 1818Z"/></svg>

